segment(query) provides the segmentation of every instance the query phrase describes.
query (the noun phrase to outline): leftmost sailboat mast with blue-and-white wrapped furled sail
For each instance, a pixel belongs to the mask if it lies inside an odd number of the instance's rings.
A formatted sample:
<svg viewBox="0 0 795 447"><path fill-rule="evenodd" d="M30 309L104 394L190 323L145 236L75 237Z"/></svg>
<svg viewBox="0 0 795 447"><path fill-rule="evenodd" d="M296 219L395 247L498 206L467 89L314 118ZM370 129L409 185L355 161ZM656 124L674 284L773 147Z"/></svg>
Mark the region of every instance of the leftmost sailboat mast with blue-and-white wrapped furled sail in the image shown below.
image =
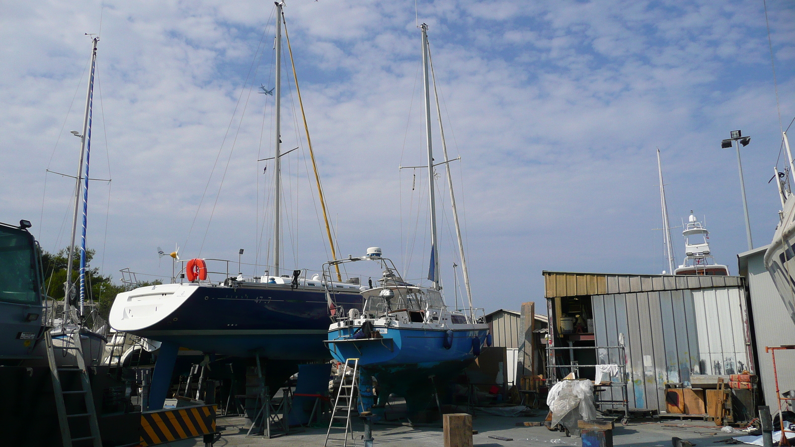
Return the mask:
<svg viewBox="0 0 795 447"><path fill-rule="evenodd" d="M64 282L64 310L68 309L68 302L69 298L72 297L74 294L74 286L72 285L72 270L73 270L73 259L75 257L75 238L77 233L77 216L80 212L80 192L83 188L81 181L83 181L83 161L85 160L86 156L86 147L87 147L87 134L91 131L91 98L94 95L94 71L96 66L96 58L97 58L97 42L99 42L99 37L94 37L91 39L92 49L91 49L91 74L89 76L88 81L88 88L86 92L86 111L83 115L83 133L80 135L80 161L77 165L77 175L75 179L75 211L72 214L72 237L69 242L69 255L66 262L66 282ZM85 176L85 181L87 183L88 176ZM86 188L88 185L85 185ZM84 195L83 200L87 197ZM83 204L83 212L85 212L86 205ZM86 223L85 214L83 214L83 226ZM83 227L83 241L82 241L82 248L80 251L80 264L83 266L81 268L81 273L84 274L85 268L85 227ZM82 278L81 278L82 279ZM82 283L82 282L81 282ZM80 306L80 315L83 314L83 287L81 287L81 306Z"/></svg>

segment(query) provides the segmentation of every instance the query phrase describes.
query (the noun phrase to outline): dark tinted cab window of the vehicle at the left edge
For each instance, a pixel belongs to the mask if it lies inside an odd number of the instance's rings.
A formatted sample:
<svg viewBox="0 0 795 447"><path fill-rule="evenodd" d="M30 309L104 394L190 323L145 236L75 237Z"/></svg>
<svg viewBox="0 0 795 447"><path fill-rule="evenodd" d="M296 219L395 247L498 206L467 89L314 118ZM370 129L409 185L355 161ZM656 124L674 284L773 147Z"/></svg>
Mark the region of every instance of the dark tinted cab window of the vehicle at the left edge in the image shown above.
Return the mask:
<svg viewBox="0 0 795 447"><path fill-rule="evenodd" d="M0 227L0 301L38 303L33 238Z"/></svg>

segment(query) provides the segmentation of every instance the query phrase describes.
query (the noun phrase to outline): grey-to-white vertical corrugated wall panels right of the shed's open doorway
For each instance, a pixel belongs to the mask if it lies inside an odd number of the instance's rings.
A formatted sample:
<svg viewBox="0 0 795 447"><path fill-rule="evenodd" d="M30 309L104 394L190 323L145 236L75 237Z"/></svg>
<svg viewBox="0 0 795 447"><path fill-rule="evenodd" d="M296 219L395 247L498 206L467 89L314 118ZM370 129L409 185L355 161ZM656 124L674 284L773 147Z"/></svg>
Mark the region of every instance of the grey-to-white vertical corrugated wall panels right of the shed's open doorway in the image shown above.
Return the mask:
<svg viewBox="0 0 795 447"><path fill-rule="evenodd" d="M614 276L617 283L631 283ZM684 277L689 278L700 279ZM639 279L636 286L642 287ZM737 286L591 297L596 346L616 346L624 334L630 407L665 410L666 383L689 386L691 375L734 374L748 367L743 302ZM615 350L599 351L598 363L619 363ZM620 399L618 388L605 393Z"/></svg>

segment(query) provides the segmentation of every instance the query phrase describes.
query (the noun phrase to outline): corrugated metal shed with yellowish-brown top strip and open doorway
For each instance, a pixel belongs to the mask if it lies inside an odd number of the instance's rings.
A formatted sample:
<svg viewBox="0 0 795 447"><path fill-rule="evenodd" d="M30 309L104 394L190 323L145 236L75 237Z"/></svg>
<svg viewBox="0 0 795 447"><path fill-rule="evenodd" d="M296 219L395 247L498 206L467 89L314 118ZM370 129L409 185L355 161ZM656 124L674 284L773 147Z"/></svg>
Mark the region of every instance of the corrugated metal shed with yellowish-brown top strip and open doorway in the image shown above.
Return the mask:
<svg viewBox="0 0 795 447"><path fill-rule="evenodd" d="M572 297L590 297L595 346L616 346L624 334L630 406L665 410L666 383L754 371L741 277L543 274L557 345L558 313ZM600 364L620 363L615 350L597 356Z"/></svg>

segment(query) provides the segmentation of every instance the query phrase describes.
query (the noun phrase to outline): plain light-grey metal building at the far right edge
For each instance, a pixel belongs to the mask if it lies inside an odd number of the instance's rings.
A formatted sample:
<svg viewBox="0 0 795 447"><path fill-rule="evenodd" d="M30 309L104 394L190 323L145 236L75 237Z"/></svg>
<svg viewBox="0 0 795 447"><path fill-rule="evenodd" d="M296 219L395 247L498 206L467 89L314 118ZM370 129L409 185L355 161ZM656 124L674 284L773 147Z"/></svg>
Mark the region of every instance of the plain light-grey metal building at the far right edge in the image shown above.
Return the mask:
<svg viewBox="0 0 795 447"><path fill-rule="evenodd" d="M781 300L781 296L765 270L763 258L767 247L759 247L737 255L740 274L748 281L750 310L754 321L756 352L758 356L757 371L762 383L762 393L770 411L778 411L776 387L773 377L773 360L770 353L765 352L766 346L795 344L795 325L789 318L789 311ZM771 330L775 328L775 330ZM776 356L778 370L778 386L782 391L795 389L795 352L778 352ZM781 374L785 372L785 374Z"/></svg>

